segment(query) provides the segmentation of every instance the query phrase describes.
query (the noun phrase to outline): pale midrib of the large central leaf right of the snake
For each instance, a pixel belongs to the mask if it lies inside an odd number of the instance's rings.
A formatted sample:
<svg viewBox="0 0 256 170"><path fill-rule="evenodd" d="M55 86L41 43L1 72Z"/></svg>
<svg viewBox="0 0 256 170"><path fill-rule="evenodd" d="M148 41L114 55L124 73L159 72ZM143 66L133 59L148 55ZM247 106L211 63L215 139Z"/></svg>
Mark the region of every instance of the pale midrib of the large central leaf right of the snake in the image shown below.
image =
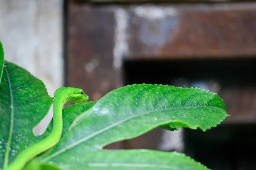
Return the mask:
<svg viewBox="0 0 256 170"><path fill-rule="evenodd" d="M218 108L218 107L215 107L215 106L193 106L193 107L186 107L186 108L205 108L205 107ZM178 107L178 108L180 108L180 107ZM177 108L168 108L168 109L169 109L169 110L172 110L172 109L177 109ZM223 110L222 108L218 108L218 109ZM87 141L88 139L93 138L94 136L96 136L96 135L98 135L98 134L100 134L100 133L102 133L102 132L104 132L104 131L106 131L106 130L109 130L109 129L111 129L112 127L115 127L115 126L119 125L120 123L125 122L125 121L127 121L127 120L129 120L129 119L133 119L134 117L137 117L137 116L143 116L143 115L146 115L146 114L150 114L151 112L154 112L154 111L159 111L159 112L161 112L161 111L164 111L164 110L166 111L166 108L165 108L165 109L159 109L159 110L153 110L153 111L146 111L146 112L144 112L144 113L142 113L142 114L135 114L135 115L130 116L130 117L126 118L126 119L122 119L122 120L120 120L120 121L118 121L118 122L115 122L115 123L111 124L110 126L104 127L104 128L102 128L102 129L96 131L95 133L90 134L89 136L86 136L86 137L84 137L84 138L82 138L82 139L80 139L80 140L74 142L73 144L67 145L66 147L64 147L64 148L62 148L62 149L60 149L60 150L58 150L57 152L55 152L55 153L53 153L53 154L47 156L45 159L42 160L42 162L48 161L49 159L52 159L53 157L58 156L58 154L63 153L63 152L65 152L66 150L69 150L70 148L75 147L76 145L81 144L82 142L85 142L85 141Z"/></svg>

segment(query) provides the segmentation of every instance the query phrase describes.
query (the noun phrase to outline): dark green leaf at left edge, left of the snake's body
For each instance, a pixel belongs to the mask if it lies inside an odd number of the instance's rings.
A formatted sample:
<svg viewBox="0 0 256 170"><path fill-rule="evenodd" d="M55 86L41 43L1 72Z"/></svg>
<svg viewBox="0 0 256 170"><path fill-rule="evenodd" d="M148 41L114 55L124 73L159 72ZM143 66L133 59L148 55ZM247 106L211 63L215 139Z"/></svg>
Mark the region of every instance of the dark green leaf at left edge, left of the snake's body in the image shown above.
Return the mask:
<svg viewBox="0 0 256 170"><path fill-rule="evenodd" d="M48 113L52 102L41 80L15 64L5 63L0 85L0 167L38 142L32 129Z"/></svg>

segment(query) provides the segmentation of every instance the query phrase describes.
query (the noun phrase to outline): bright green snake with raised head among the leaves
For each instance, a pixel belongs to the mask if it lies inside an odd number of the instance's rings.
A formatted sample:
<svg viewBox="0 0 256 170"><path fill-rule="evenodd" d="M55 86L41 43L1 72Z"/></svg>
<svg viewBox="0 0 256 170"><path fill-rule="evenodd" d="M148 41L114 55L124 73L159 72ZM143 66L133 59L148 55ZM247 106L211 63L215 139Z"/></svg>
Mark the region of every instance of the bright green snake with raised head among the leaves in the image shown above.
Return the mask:
<svg viewBox="0 0 256 170"><path fill-rule="evenodd" d="M88 96L79 88L58 88L54 92L52 132L40 142L20 152L16 159L4 170L22 170L35 156L53 147L61 139L63 121L62 108L67 103L85 102Z"/></svg>

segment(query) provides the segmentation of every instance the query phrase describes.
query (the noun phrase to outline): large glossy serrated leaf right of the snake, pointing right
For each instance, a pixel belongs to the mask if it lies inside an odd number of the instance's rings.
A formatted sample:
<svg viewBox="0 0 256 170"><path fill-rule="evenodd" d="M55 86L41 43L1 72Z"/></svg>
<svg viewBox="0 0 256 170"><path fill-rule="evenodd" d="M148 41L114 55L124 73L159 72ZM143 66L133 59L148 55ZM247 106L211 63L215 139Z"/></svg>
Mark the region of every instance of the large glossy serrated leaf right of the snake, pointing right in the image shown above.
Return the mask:
<svg viewBox="0 0 256 170"><path fill-rule="evenodd" d="M80 162L81 155L91 155L107 144L140 136L159 126L205 131L227 116L223 100L203 89L128 85L100 99L55 147L41 156L41 162L61 164L60 160L73 155L73 164L87 166L90 161Z"/></svg>

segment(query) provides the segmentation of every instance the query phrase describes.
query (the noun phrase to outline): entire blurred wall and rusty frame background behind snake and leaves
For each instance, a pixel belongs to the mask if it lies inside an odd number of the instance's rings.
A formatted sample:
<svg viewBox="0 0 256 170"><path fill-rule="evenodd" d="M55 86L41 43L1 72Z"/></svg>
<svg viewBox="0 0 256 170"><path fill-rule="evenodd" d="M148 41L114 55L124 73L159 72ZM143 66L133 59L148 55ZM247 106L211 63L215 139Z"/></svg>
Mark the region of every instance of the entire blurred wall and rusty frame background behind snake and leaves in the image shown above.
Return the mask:
<svg viewBox="0 0 256 170"><path fill-rule="evenodd" d="M186 153L212 170L255 170L256 2L237 0L0 0L6 60L90 100L134 83L216 92L218 127L155 129L108 145ZM44 132L51 119L35 128Z"/></svg>

